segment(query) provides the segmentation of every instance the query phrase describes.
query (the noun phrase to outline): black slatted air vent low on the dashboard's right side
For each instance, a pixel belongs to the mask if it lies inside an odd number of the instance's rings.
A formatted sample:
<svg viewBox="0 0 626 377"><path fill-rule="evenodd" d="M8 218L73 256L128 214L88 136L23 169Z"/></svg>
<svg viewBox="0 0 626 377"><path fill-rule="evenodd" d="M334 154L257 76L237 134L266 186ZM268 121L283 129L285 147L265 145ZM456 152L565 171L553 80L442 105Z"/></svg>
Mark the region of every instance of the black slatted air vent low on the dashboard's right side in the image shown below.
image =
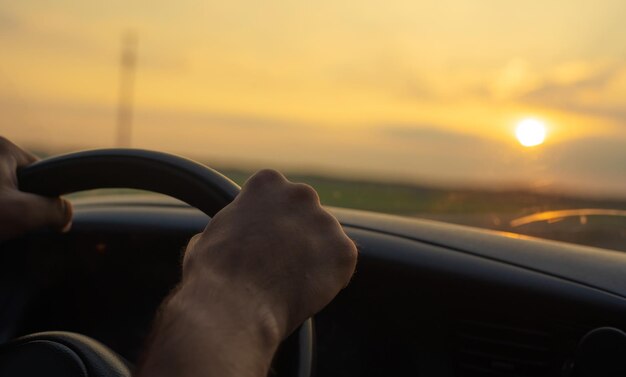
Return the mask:
<svg viewBox="0 0 626 377"><path fill-rule="evenodd" d="M455 326L456 365L463 377L559 376L572 343L561 331L461 321ZM563 334L565 335L565 334Z"/></svg>

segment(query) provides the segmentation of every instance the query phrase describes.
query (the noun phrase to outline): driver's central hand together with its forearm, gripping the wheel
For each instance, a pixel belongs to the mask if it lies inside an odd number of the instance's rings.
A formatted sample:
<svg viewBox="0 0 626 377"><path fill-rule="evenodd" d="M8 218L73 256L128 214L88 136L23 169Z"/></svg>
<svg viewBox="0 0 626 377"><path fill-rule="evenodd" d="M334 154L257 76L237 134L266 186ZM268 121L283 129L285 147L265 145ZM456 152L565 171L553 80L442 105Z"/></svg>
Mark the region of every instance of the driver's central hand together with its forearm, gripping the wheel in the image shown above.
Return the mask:
<svg viewBox="0 0 626 377"><path fill-rule="evenodd" d="M356 259L315 190L258 172L189 242L138 377L266 376L279 343L348 284Z"/></svg>

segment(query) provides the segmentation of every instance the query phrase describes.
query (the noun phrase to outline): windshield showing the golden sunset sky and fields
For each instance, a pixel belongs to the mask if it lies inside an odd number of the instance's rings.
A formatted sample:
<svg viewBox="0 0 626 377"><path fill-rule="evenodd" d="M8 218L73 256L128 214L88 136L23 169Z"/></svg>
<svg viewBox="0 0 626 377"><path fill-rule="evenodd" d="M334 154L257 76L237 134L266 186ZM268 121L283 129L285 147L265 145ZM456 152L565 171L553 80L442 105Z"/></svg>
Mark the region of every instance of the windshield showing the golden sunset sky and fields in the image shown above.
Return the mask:
<svg viewBox="0 0 626 377"><path fill-rule="evenodd" d="M626 250L623 0L0 2L0 129L41 156Z"/></svg>

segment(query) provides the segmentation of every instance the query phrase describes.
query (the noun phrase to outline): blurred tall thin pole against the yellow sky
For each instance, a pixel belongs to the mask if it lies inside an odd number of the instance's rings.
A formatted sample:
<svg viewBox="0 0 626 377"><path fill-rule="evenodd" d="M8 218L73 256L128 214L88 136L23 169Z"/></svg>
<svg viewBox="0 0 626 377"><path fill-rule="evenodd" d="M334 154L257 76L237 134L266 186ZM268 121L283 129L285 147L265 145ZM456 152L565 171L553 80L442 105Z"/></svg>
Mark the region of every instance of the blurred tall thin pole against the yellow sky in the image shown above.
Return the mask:
<svg viewBox="0 0 626 377"><path fill-rule="evenodd" d="M119 99L117 107L117 147L129 148L132 145L133 94L135 69L137 67L137 34L127 31L122 37L120 59Z"/></svg>

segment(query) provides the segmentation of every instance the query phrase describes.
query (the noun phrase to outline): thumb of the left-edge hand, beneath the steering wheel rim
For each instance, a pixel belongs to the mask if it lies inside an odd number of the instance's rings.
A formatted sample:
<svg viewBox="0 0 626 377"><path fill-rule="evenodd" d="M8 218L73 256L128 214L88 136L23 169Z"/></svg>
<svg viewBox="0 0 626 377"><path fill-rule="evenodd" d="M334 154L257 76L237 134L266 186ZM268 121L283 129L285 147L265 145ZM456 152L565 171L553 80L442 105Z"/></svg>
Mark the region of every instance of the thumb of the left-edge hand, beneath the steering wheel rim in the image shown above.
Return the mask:
<svg viewBox="0 0 626 377"><path fill-rule="evenodd" d="M48 198L45 196L17 191L15 213L17 224L21 229L17 233L24 233L36 228L50 228L67 232L72 225L72 205L63 198Z"/></svg>

